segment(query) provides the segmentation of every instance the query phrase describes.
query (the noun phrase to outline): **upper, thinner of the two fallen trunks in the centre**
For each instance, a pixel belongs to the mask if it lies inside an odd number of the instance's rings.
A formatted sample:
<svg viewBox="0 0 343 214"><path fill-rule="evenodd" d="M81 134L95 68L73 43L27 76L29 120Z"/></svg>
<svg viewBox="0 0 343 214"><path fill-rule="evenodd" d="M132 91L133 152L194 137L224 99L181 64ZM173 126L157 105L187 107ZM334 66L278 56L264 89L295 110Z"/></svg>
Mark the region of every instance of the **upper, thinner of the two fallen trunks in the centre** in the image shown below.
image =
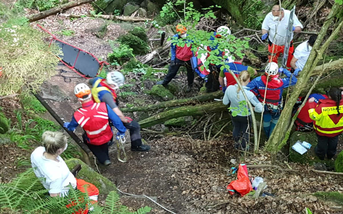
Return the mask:
<svg viewBox="0 0 343 214"><path fill-rule="evenodd" d="M205 95L200 95L196 97L191 98L185 98L185 99L179 99L179 100L170 100L166 102L160 102L154 105L148 105L148 106L142 106L142 107L131 107L131 108L124 108L121 109L122 112L149 112L157 109L163 109L168 107L174 107L174 106L181 106L181 105L187 105L191 103L200 103L207 100L213 100L214 98L219 98L223 96L222 91L217 91L214 93L208 93Z"/></svg>

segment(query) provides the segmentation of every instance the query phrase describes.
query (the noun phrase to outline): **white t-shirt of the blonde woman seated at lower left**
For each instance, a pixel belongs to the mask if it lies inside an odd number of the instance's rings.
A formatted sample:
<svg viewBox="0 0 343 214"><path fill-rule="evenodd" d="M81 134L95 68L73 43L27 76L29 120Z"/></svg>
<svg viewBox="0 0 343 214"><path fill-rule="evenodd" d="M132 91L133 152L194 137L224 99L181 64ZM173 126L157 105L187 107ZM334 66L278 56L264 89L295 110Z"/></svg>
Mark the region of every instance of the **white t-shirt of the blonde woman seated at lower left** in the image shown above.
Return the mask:
<svg viewBox="0 0 343 214"><path fill-rule="evenodd" d="M49 193L60 192L61 196L65 196L69 191L69 184L76 188L76 179L60 156L57 157L57 162L46 159L44 152L44 147L38 147L32 152L31 164L34 172L38 178L44 178L42 184Z"/></svg>

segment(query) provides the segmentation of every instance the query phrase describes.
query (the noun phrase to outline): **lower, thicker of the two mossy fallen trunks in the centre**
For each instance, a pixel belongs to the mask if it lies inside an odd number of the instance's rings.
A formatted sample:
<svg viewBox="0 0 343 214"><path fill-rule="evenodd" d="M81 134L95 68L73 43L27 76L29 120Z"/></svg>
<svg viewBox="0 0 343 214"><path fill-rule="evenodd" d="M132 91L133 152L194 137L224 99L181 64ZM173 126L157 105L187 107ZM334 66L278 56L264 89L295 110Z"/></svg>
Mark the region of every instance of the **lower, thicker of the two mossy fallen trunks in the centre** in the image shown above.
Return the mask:
<svg viewBox="0 0 343 214"><path fill-rule="evenodd" d="M161 112L149 118L143 119L142 121L138 122L141 128L147 128L154 126L159 123L163 123L168 119L184 117L184 116L192 116L192 115L201 115L201 114L209 114L213 112L220 112L225 111L227 106L224 105L222 102L212 102L202 105L188 105L183 106L180 108L168 110L165 112Z"/></svg>

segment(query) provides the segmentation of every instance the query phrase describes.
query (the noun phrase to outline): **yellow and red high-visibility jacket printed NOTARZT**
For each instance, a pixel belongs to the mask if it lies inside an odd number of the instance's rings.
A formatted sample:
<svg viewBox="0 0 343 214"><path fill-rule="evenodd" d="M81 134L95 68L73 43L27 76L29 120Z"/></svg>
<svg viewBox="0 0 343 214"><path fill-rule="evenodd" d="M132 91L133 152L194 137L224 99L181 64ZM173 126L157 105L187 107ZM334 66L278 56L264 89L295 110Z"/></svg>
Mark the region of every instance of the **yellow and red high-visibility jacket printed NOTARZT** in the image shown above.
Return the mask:
<svg viewBox="0 0 343 214"><path fill-rule="evenodd" d="M337 108L331 99L309 103L309 116L314 120L313 127L320 136L335 137L343 132L343 97ZM338 114L338 111L340 114Z"/></svg>

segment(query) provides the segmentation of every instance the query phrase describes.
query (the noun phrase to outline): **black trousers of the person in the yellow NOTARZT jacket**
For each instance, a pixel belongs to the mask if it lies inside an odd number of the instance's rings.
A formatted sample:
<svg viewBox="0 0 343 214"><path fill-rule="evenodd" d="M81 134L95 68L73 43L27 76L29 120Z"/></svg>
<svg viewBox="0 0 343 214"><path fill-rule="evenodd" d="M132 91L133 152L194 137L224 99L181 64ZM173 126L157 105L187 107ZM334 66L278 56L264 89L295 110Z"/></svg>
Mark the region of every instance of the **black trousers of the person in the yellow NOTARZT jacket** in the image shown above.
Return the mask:
<svg viewBox="0 0 343 214"><path fill-rule="evenodd" d="M324 160L325 154L329 160L333 158L336 154L338 136L339 135L335 137L326 137L317 134L318 144L315 151L320 160Z"/></svg>

